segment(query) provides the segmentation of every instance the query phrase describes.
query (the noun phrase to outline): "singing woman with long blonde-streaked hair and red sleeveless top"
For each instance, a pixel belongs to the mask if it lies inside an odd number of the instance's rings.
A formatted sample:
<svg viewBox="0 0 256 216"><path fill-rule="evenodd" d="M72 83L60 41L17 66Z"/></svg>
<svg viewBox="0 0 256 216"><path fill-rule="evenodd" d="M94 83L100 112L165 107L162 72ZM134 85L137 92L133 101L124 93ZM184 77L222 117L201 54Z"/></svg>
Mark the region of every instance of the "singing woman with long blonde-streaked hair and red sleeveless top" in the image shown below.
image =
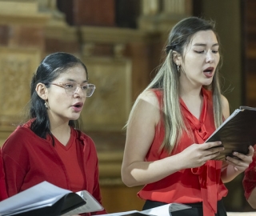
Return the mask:
<svg viewBox="0 0 256 216"><path fill-rule="evenodd" d="M220 42L214 23L185 18L170 31L166 59L130 112L122 162L126 186L138 192L143 209L179 202L191 206L173 216L224 216L222 198L230 182L246 170L249 154L234 152L226 162L212 160L221 142L207 142L229 117L218 73Z"/></svg>

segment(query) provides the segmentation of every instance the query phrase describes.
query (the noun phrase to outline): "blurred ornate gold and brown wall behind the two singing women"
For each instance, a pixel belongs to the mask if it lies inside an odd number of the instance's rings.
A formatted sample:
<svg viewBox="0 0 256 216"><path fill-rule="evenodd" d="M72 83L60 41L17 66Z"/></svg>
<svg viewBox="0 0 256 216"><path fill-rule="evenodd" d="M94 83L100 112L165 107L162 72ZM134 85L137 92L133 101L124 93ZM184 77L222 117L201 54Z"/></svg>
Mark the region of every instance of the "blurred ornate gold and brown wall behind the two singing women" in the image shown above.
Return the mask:
<svg viewBox="0 0 256 216"><path fill-rule="evenodd" d="M141 210L140 187L122 184L122 127L138 94L154 77L172 26L199 16L217 22L222 90L230 112L256 106L254 0L0 0L0 144L22 119L30 78L47 54L81 58L96 85L82 113L98 149L103 205L109 213ZM252 210L242 174L226 185L230 211Z"/></svg>

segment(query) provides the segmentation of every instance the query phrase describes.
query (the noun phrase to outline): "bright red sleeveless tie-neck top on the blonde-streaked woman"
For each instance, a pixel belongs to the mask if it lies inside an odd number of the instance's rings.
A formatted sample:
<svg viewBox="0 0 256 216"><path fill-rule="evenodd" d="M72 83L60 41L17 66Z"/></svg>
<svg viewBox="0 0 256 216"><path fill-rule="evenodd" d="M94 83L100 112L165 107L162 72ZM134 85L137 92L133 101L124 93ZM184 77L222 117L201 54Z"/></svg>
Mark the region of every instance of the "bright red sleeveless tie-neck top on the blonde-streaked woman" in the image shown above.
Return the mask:
<svg viewBox="0 0 256 216"><path fill-rule="evenodd" d="M162 91L154 90L162 106ZM157 161L170 155L178 154L193 143L204 143L206 138L215 130L214 111L211 91L202 88L203 106L200 118L195 118L180 98L180 106L186 126L193 134L182 134L181 140L171 154L166 150L159 150L164 138L163 119L155 128L154 140L146 155L146 161ZM222 161L207 161L198 168L179 170L166 178L147 184L138 192L138 197L157 202L194 203L203 202L203 213L214 216L217 213L217 201L227 194L226 186L221 180Z"/></svg>

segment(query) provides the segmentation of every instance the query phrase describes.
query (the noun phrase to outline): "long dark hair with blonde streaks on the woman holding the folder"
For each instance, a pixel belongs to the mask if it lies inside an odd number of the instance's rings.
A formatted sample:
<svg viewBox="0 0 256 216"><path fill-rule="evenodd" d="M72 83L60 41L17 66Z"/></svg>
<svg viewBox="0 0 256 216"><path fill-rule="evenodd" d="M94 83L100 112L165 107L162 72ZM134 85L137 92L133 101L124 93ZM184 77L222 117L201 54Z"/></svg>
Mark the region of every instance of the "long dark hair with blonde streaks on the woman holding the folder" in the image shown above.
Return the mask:
<svg viewBox="0 0 256 216"><path fill-rule="evenodd" d="M185 126L179 104L179 71L173 61L173 53L176 52L181 54L182 58L184 58L184 49L190 44L194 34L201 30L214 31L219 43L218 34L216 33L214 26L214 22L196 17L185 18L178 22L169 34L166 46L166 59L159 67L158 74L156 74L149 86L144 90L158 89L162 91L163 102L160 107L164 117L165 137L161 148L165 148L169 152L171 152L178 143L182 136L182 131L190 133ZM221 59L222 58L220 58L220 60ZM218 78L220 66L221 61L215 70L213 82L209 86L203 86L207 90L211 90L213 94L214 125L216 128L220 126L223 121L221 90ZM129 124L133 116L134 107L137 103L138 99L134 102L127 124Z"/></svg>

